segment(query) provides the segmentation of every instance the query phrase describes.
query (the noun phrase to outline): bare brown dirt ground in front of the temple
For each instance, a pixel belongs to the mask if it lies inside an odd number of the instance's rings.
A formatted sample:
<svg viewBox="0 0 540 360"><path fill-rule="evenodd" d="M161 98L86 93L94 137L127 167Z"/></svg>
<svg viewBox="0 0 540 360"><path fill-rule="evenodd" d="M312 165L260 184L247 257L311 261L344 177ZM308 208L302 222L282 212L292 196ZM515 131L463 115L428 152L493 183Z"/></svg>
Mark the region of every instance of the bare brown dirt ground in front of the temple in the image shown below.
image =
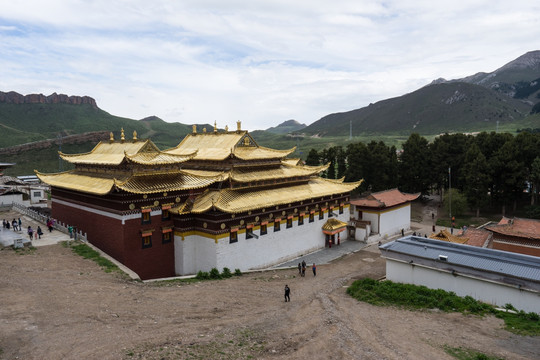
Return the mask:
<svg viewBox="0 0 540 360"><path fill-rule="evenodd" d="M443 345L540 358L539 338L512 335L494 317L374 307L346 294L384 266L370 247L319 266L317 277L281 270L164 285L106 274L59 245L6 249L0 359L451 359Z"/></svg>

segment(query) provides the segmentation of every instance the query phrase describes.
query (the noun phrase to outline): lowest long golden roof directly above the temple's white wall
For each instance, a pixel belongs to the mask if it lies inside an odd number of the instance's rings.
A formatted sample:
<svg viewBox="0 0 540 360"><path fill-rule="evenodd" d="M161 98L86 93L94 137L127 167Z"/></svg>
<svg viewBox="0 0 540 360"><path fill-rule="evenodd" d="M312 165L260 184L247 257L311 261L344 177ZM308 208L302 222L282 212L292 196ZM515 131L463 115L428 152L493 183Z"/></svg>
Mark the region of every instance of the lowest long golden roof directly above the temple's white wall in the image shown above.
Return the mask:
<svg viewBox="0 0 540 360"><path fill-rule="evenodd" d="M273 189L222 189L206 190L193 204L192 212L203 213L212 207L226 213L268 208L315 197L341 194L354 190L363 180L354 183L337 183L315 178L307 184Z"/></svg>

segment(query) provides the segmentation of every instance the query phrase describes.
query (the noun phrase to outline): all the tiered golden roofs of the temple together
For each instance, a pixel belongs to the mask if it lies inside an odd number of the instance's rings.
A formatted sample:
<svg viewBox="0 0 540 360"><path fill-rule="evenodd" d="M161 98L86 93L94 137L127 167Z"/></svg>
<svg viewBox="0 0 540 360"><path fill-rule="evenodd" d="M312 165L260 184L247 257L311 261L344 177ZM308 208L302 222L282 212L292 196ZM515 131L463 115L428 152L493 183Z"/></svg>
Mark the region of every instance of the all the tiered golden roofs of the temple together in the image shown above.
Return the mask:
<svg viewBox="0 0 540 360"><path fill-rule="evenodd" d="M239 213L333 194L348 193L360 182L343 183L317 175L328 168L298 165L299 159L285 159L295 148L274 150L256 144L247 131L197 133L187 135L175 148L160 151L150 140L100 142L84 154L60 154L76 169L43 174L45 183L96 195L113 190L151 194L208 188L189 204L172 212L202 213L216 209ZM233 162L226 162L233 159ZM203 166L201 166L203 164ZM120 166L122 165L122 166ZM166 166L163 166L166 165ZM203 169L203 170L201 170ZM211 170L208 170L211 169ZM294 182L294 185L285 183ZM214 183L228 181L219 187ZM243 189L234 184L244 184ZM245 188L248 186L253 186ZM254 187L259 186L259 187ZM264 186L261 187L261 186Z"/></svg>

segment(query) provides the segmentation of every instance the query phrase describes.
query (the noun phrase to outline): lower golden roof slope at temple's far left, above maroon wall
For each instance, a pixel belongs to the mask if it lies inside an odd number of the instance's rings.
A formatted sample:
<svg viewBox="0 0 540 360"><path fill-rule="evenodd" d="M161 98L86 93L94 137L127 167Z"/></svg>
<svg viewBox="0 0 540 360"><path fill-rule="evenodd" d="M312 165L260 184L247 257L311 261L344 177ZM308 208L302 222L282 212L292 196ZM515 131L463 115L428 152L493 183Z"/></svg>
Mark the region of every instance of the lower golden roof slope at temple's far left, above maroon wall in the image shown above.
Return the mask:
<svg viewBox="0 0 540 360"><path fill-rule="evenodd" d="M105 195L114 186L114 174L83 174L67 171L57 174L43 174L35 171L38 178L51 186L78 190L89 194Z"/></svg>

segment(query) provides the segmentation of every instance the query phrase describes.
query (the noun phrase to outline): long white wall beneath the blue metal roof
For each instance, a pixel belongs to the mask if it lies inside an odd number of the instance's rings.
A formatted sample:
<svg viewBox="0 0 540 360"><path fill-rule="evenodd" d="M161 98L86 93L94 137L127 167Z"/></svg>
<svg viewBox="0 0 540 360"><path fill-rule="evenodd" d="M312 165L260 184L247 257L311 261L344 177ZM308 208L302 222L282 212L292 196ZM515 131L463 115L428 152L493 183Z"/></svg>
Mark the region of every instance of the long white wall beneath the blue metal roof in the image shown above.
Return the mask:
<svg viewBox="0 0 540 360"><path fill-rule="evenodd" d="M512 304L518 310L540 312L538 307L540 293L466 275L454 276L438 269L411 265L387 258L386 278L399 283L453 291L459 296L469 295L477 300L500 307Z"/></svg>

